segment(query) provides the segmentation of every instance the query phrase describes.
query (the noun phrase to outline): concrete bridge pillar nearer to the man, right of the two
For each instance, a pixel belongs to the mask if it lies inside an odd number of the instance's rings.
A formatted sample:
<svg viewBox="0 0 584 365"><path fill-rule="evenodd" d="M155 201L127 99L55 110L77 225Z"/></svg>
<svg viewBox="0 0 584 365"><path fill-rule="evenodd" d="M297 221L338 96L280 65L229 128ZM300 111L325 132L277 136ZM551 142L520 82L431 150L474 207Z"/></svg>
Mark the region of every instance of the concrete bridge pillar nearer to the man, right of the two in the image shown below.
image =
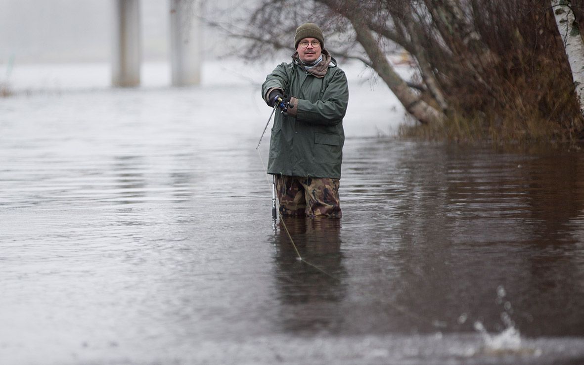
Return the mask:
<svg viewBox="0 0 584 365"><path fill-rule="evenodd" d="M171 16L172 86L201 81L201 22L199 0L169 0Z"/></svg>

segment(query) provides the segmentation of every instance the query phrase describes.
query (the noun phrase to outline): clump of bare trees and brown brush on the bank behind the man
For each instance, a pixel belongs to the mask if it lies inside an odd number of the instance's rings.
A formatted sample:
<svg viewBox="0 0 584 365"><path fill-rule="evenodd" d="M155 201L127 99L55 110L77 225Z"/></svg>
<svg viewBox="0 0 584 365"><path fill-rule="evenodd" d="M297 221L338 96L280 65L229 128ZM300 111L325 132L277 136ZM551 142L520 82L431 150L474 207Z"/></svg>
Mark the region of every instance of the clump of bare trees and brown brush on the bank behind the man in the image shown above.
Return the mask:
<svg viewBox="0 0 584 365"><path fill-rule="evenodd" d="M253 42L255 58L289 49L307 21L325 30L333 55L371 67L423 124L447 129L462 119L507 139L583 135L550 0L265 0L233 33ZM396 49L415 60L415 88L392 67Z"/></svg>

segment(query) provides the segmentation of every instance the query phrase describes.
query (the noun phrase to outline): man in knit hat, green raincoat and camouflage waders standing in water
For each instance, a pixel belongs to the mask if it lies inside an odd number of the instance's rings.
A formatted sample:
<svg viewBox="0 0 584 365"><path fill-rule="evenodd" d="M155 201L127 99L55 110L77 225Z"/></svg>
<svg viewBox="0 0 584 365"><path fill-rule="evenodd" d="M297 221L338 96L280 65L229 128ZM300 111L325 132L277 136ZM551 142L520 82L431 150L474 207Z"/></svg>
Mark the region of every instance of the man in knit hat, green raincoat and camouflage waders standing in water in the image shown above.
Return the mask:
<svg viewBox="0 0 584 365"><path fill-rule="evenodd" d="M340 218L345 72L324 48L320 27L296 29L292 62L267 75L262 96L277 107L267 173L275 176L280 215Z"/></svg>

